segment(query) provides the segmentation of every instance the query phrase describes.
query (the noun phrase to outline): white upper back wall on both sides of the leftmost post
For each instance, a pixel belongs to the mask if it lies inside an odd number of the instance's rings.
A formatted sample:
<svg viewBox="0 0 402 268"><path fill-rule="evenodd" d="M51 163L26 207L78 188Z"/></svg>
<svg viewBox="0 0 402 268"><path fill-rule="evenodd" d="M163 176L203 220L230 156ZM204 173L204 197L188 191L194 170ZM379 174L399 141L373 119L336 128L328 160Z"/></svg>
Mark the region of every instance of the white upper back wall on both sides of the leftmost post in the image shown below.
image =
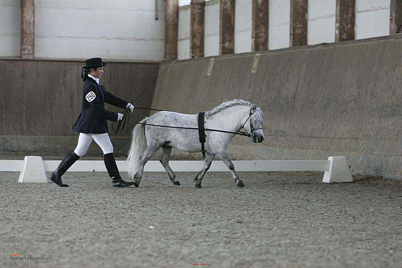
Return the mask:
<svg viewBox="0 0 402 268"><path fill-rule="evenodd" d="M19 0L0 0L0 55L20 56ZM165 3L36 0L35 57L162 60Z"/></svg>

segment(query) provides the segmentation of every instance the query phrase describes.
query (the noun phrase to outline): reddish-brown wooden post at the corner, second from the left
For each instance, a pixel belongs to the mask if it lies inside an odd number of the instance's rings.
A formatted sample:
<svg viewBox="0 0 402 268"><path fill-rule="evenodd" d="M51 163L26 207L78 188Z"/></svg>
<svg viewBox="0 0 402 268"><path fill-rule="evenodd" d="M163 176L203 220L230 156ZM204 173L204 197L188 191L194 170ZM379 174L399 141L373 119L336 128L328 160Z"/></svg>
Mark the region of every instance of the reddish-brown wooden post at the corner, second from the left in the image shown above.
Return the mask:
<svg viewBox="0 0 402 268"><path fill-rule="evenodd" d="M179 25L179 1L166 0L165 14L165 61L177 58L177 40Z"/></svg>

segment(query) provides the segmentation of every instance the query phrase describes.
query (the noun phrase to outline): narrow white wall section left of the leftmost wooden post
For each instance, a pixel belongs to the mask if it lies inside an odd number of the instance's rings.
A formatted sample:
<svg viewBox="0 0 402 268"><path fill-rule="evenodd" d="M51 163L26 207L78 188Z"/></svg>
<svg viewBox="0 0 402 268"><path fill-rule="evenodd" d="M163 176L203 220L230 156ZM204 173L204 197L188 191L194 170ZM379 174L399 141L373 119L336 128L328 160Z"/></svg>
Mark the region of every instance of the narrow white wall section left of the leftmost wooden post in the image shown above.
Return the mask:
<svg viewBox="0 0 402 268"><path fill-rule="evenodd" d="M0 56L19 57L21 50L21 5L0 0Z"/></svg>

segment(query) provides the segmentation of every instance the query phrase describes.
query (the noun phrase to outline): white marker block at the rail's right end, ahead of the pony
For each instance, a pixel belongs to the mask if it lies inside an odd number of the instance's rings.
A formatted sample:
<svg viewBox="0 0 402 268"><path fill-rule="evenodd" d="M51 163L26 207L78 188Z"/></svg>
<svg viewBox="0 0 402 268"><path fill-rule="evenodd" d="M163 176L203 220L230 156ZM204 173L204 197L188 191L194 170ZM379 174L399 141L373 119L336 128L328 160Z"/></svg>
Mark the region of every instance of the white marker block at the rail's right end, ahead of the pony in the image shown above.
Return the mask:
<svg viewBox="0 0 402 268"><path fill-rule="evenodd" d="M345 156L330 156L330 168L325 171L323 183L349 183L353 182L348 161Z"/></svg>

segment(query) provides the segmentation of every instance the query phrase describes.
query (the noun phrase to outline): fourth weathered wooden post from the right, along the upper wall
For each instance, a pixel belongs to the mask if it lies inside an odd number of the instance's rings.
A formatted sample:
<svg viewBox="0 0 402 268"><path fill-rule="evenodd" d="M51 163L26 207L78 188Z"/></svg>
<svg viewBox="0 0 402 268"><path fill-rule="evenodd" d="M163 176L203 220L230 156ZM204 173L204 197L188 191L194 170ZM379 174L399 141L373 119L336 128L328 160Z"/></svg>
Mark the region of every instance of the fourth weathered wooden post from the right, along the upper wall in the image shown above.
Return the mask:
<svg viewBox="0 0 402 268"><path fill-rule="evenodd" d="M268 50L269 0L253 0L251 51Z"/></svg>

